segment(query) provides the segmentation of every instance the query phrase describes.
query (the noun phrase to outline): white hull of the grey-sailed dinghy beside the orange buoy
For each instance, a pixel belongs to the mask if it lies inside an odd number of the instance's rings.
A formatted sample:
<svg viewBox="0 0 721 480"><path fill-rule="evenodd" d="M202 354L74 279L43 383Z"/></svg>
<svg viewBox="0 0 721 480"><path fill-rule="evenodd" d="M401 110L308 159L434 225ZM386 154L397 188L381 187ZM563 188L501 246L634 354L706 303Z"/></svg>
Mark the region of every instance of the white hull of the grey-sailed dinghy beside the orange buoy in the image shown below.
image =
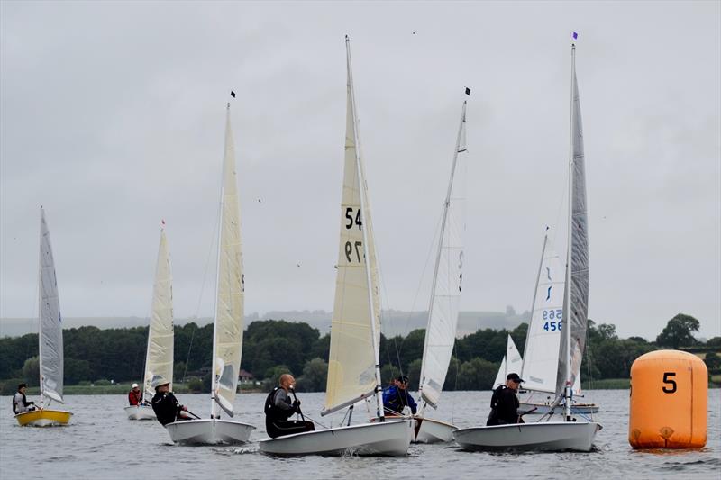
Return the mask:
<svg viewBox="0 0 721 480"><path fill-rule="evenodd" d="M582 451L593 448L594 421L544 421L456 430L453 439L471 451Z"/></svg>

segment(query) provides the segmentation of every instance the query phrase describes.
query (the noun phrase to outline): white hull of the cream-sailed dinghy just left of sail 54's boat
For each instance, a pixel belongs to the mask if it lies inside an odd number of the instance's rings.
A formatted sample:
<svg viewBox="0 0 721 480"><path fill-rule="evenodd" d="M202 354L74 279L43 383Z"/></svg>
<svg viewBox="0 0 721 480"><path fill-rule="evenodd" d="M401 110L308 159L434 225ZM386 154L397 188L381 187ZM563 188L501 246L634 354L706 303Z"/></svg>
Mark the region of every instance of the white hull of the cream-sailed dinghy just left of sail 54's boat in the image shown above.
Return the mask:
<svg viewBox="0 0 721 480"><path fill-rule="evenodd" d="M170 439L181 445L245 443L255 427L240 421L201 419L174 421L165 426Z"/></svg>

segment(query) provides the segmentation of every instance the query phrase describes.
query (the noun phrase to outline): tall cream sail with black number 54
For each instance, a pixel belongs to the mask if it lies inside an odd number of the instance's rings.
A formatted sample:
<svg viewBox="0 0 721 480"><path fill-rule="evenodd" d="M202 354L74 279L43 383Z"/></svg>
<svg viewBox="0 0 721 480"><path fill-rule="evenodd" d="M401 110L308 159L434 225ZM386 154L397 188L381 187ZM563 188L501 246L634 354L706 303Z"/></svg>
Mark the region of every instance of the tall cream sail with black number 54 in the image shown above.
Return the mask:
<svg viewBox="0 0 721 480"><path fill-rule="evenodd" d="M341 235L324 413L351 405L379 386L380 305L365 168L360 157L351 53L347 50ZM381 412L382 413L382 412Z"/></svg>

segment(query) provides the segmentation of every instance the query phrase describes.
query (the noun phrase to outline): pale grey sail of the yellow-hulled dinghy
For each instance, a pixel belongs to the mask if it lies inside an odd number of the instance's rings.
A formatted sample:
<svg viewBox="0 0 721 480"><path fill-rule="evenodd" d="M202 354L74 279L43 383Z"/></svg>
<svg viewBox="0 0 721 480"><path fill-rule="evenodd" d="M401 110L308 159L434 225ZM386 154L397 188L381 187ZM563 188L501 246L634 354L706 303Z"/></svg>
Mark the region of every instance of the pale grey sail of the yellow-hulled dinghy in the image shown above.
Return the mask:
<svg viewBox="0 0 721 480"><path fill-rule="evenodd" d="M64 403L62 316L58 296L58 280L55 277L55 261L52 258L50 231L45 221L45 211L40 209L40 385L41 397L50 397Z"/></svg>

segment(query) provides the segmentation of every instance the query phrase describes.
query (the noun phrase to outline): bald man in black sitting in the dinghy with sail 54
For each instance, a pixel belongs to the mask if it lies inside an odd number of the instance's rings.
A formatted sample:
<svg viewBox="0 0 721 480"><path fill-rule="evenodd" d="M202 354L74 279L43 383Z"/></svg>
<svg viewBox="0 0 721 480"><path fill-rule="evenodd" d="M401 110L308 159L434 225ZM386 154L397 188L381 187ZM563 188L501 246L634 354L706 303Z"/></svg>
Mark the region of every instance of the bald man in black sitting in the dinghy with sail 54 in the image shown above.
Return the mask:
<svg viewBox="0 0 721 480"><path fill-rule="evenodd" d="M273 388L265 399L265 430L271 439L315 430L312 421L288 420L294 413L300 413L300 400L296 397L295 388L296 379L290 374L283 374L280 385ZM293 403L288 393L295 397Z"/></svg>

